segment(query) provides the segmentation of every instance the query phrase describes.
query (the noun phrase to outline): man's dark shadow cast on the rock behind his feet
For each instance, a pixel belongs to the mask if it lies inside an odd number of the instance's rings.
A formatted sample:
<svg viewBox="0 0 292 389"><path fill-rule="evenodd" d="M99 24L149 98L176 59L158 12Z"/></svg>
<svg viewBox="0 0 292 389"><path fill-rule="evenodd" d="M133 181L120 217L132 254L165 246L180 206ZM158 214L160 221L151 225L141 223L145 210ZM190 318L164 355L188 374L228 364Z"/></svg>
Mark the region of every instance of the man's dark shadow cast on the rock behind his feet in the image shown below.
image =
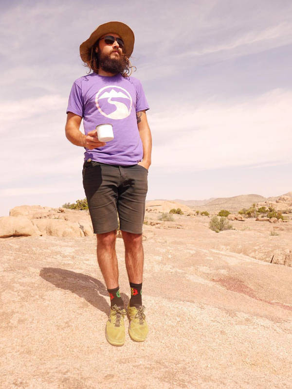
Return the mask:
<svg viewBox="0 0 292 389"><path fill-rule="evenodd" d="M107 315L109 314L110 305L103 297L109 297L109 293L105 285L96 278L56 267L43 267L39 275L57 288L70 290L72 293L88 301L95 308L105 312ZM125 293L121 293L121 297L125 306L127 306L129 301L128 296Z"/></svg>

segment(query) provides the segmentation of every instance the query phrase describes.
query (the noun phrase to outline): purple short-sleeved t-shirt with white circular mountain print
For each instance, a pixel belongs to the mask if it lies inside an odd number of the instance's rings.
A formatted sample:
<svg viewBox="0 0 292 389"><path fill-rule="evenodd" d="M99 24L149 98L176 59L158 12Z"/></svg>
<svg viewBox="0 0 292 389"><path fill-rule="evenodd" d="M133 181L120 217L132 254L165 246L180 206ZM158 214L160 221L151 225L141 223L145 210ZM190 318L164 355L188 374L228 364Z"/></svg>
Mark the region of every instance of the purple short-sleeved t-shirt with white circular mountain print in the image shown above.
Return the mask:
<svg viewBox="0 0 292 389"><path fill-rule="evenodd" d="M141 82L135 77L91 73L74 81L67 113L83 117L85 135L99 124L112 124L112 141L85 149L84 160L111 165L134 165L142 160L143 146L136 112L149 109Z"/></svg>

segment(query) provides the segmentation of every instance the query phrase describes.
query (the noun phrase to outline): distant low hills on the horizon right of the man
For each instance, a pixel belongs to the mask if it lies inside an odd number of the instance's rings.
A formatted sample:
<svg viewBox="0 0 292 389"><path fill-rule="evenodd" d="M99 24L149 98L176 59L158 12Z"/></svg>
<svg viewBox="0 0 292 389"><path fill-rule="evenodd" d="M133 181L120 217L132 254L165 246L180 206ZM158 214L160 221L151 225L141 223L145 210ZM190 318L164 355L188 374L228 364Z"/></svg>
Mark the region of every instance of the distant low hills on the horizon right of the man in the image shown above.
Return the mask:
<svg viewBox="0 0 292 389"><path fill-rule="evenodd" d="M285 196L291 196L292 192L288 192L284 194ZM272 197L264 197L261 195L239 195L234 197L211 197L206 200L182 200L182 199L175 199L172 201L176 201L177 203L187 205L188 207L198 210L198 211L209 211L209 212L219 212L220 210L228 210L230 212L237 212L241 210L242 208L249 208L254 203L263 202L266 200L275 201L277 200L279 196L272 196ZM165 199L160 199L167 201Z"/></svg>

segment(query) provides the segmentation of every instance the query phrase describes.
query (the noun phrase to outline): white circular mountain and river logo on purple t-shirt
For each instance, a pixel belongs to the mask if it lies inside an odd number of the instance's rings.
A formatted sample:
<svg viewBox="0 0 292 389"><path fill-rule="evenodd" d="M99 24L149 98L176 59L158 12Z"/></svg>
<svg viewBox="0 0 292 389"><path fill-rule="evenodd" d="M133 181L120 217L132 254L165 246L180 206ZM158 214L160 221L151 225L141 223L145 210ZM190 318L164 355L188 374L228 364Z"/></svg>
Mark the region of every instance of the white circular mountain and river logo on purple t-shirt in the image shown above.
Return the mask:
<svg viewBox="0 0 292 389"><path fill-rule="evenodd" d="M99 89L95 95L95 104L99 112L109 119L125 119L132 110L129 92L115 85ZM115 109L112 110L113 108Z"/></svg>

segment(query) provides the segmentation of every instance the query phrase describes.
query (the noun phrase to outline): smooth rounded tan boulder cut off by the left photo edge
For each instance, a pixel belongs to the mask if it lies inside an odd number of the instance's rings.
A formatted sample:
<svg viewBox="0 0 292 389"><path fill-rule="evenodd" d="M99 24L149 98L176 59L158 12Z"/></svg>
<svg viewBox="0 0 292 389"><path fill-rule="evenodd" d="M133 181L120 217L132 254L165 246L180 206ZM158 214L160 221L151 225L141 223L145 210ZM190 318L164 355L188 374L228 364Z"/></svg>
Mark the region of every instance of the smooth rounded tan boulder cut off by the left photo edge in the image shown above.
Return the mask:
<svg viewBox="0 0 292 389"><path fill-rule="evenodd" d="M41 232L25 216L2 216L0 217L0 238L10 236L39 236Z"/></svg>

